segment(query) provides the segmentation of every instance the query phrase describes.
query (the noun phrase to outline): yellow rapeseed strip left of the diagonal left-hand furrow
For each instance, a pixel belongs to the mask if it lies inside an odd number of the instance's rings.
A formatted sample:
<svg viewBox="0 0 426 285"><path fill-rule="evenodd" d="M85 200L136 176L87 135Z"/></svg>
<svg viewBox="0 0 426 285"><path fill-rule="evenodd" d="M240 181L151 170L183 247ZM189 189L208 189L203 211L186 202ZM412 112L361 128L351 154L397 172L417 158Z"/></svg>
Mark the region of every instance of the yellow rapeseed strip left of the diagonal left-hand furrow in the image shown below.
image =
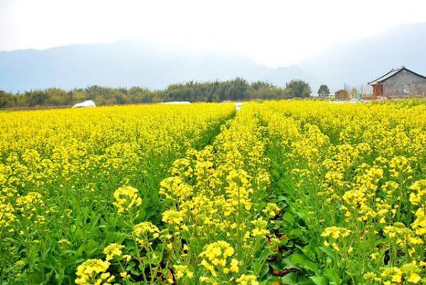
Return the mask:
<svg viewBox="0 0 426 285"><path fill-rule="evenodd" d="M132 185L155 221L176 158L209 144L230 104L0 114L0 284L73 284L84 259L121 240L114 190Z"/></svg>

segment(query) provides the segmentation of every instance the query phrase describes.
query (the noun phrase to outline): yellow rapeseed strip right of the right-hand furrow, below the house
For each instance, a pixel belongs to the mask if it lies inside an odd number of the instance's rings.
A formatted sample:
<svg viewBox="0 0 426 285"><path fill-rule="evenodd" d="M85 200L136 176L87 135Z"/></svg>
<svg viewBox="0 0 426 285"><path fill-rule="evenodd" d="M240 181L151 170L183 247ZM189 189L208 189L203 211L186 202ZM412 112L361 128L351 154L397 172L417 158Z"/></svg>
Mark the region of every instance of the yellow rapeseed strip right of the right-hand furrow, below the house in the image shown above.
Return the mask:
<svg viewBox="0 0 426 285"><path fill-rule="evenodd" d="M426 281L426 106L407 103L266 104L285 212L275 266L299 269L286 284Z"/></svg>

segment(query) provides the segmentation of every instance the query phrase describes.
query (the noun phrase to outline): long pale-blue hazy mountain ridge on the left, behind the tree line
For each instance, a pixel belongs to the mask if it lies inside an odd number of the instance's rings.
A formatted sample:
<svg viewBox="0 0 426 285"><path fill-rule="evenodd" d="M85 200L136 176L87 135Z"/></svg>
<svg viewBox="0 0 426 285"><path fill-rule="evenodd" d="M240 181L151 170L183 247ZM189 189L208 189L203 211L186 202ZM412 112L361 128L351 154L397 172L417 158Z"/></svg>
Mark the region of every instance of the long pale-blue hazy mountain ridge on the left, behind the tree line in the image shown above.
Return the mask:
<svg viewBox="0 0 426 285"><path fill-rule="evenodd" d="M295 67L273 70L239 55L193 55L173 47L120 41L0 52L0 90L72 89L89 85L162 89L171 83L234 77L285 85L294 78L295 70L295 76L304 74Z"/></svg>

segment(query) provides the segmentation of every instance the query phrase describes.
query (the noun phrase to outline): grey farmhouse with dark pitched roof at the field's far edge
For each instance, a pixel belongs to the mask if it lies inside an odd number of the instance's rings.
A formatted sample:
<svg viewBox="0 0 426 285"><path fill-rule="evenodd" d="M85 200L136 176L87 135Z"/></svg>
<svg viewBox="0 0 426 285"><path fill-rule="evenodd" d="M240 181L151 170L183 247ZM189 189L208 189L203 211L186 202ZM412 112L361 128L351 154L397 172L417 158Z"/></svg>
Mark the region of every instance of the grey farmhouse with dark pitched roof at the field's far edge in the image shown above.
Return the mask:
<svg viewBox="0 0 426 285"><path fill-rule="evenodd" d="M426 77L405 68L393 69L376 80L368 82L373 86L373 97L425 97Z"/></svg>

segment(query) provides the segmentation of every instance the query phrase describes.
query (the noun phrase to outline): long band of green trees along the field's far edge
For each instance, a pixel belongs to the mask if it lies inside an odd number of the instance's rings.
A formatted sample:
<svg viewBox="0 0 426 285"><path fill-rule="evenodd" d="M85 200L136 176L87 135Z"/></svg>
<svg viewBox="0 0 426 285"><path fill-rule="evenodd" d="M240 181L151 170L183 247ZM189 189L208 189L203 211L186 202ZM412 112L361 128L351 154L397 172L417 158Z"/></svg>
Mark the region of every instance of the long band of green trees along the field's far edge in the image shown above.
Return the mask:
<svg viewBox="0 0 426 285"><path fill-rule="evenodd" d="M87 88L62 90L48 88L23 93L0 90L0 108L67 106L84 100L93 100L98 106L109 104L141 104L168 101L223 102L226 100L280 100L309 97L310 85L303 80L291 80L285 87L270 82L248 82L236 77L233 80L196 82L169 85L165 90L148 90L141 87L111 88L93 85Z"/></svg>

